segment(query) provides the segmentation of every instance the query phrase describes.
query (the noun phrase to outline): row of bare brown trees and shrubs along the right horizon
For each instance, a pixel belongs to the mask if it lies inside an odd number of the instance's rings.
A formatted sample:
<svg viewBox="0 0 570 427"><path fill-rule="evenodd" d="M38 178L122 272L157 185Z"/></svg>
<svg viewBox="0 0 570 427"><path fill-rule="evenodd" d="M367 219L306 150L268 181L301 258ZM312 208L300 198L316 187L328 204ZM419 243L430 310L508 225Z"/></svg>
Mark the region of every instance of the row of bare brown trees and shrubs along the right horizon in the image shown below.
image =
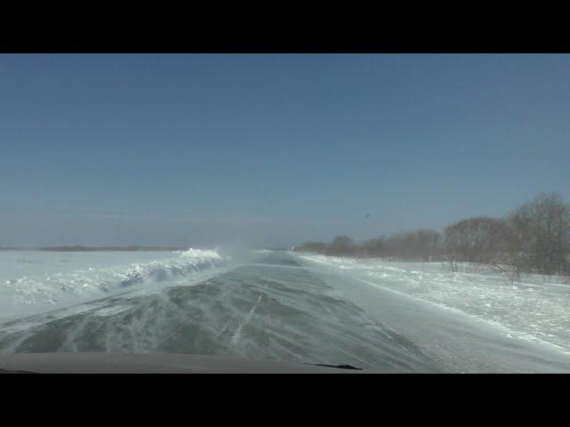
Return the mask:
<svg viewBox="0 0 570 427"><path fill-rule="evenodd" d="M570 206L542 193L501 218L476 216L437 230L414 230L362 243L338 236L330 243L295 248L335 256L445 261L453 271L490 265L520 278L522 272L570 275Z"/></svg>

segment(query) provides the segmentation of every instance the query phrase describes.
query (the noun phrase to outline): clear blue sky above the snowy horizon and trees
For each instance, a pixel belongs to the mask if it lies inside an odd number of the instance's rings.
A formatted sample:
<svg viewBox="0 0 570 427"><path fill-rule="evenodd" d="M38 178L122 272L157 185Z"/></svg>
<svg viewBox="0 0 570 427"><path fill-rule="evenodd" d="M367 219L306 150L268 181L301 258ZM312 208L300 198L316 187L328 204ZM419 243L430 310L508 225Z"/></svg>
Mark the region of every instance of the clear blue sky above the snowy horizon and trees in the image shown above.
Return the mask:
<svg viewBox="0 0 570 427"><path fill-rule="evenodd" d="M569 55L4 54L0 246L441 230L570 200L569 136Z"/></svg>

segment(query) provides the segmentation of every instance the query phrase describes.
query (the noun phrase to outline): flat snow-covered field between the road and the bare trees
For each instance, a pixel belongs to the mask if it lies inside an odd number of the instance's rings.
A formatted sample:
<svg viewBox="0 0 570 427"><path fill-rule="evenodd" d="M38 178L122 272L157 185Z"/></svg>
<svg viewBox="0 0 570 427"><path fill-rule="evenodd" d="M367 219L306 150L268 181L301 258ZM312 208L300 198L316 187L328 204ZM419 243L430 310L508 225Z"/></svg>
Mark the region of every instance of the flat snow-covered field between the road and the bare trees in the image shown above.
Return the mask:
<svg viewBox="0 0 570 427"><path fill-rule="evenodd" d="M514 285L492 270L452 272L442 262L388 262L303 254L314 265L499 326L509 337L549 344L570 354L567 278L525 275Z"/></svg>

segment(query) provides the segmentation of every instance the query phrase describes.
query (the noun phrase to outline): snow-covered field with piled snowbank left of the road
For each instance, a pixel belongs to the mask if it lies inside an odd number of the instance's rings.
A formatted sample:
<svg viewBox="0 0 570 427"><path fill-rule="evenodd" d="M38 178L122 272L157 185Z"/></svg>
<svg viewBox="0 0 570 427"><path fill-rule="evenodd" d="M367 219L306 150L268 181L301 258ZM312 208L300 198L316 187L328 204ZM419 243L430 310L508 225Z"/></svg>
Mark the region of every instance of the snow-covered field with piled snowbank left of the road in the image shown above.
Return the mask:
<svg viewBox="0 0 570 427"><path fill-rule="evenodd" d="M0 319L53 310L132 290L184 283L224 259L183 252L0 252Z"/></svg>

